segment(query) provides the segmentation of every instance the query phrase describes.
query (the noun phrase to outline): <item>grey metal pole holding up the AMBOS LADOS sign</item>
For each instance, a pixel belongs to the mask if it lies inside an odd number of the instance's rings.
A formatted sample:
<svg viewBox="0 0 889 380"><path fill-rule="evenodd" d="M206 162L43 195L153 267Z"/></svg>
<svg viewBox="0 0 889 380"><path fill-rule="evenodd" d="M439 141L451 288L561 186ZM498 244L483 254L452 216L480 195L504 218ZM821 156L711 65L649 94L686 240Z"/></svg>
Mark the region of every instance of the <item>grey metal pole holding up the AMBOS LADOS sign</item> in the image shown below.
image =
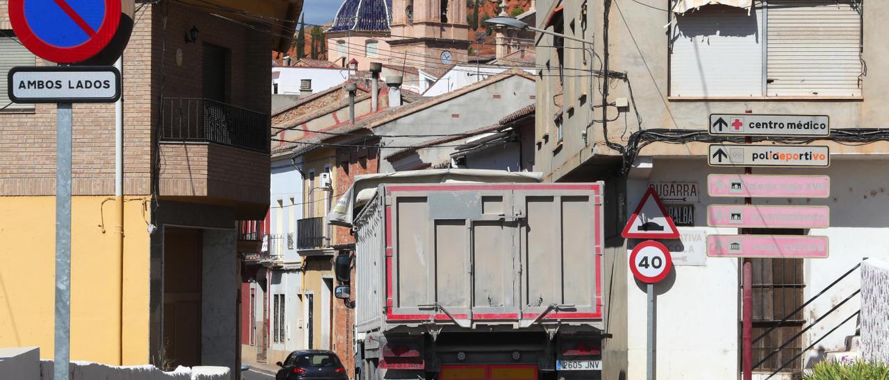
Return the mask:
<svg viewBox="0 0 889 380"><path fill-rule="evenodd" d="M56 127L55 380L68 380L71 313L71 103L59 103Z"/></svg>

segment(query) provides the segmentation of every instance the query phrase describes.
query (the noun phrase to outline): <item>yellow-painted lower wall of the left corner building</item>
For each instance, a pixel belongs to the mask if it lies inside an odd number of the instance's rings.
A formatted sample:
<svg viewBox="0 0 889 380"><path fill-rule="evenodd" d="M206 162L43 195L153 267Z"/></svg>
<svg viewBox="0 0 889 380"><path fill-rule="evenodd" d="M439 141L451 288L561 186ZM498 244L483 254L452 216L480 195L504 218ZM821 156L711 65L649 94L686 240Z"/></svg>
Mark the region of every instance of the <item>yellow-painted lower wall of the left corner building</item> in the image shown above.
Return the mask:
<svg viewBox="0 0 889 380"><path fill-rule="evenodd" d="M70 357L118 364L120 261L107 198L72 200ZM148 199L124 202L124 365L148 362ZM0 347L39 346L53 357L54 276L55 197L0 197Z"/></svg>

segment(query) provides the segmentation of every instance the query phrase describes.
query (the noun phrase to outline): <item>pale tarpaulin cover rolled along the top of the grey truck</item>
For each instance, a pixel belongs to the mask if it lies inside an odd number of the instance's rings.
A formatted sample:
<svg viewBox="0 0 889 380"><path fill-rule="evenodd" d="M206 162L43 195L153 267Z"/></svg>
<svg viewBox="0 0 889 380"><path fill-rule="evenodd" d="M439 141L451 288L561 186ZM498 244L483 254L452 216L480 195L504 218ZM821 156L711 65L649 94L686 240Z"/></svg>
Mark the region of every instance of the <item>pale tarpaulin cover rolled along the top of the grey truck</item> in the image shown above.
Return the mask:
<svg viewBox="0 0 889 380"><path fill-rule="evenodd" d="M328 223L334 226L352 226L353 211L364 206L376 194L380 184L435 184L435 183L509 183L540 182L543 175L537 172L505 170L435 169L396 171L386 174L364 174L355 182L327 214Z"/></svg>

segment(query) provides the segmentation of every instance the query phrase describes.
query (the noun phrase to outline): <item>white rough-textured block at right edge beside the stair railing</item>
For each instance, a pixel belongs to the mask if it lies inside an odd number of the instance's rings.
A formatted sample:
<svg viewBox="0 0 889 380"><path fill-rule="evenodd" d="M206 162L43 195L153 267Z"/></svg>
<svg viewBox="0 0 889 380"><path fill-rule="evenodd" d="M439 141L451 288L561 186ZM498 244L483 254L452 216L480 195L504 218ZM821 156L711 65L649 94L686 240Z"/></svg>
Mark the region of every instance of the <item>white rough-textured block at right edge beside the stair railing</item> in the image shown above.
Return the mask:
<svg viewBox="0 0 889 380"><path fill-rule="evenodd" d="M889 260L861 263L861 357L889 362Z"/></svg>

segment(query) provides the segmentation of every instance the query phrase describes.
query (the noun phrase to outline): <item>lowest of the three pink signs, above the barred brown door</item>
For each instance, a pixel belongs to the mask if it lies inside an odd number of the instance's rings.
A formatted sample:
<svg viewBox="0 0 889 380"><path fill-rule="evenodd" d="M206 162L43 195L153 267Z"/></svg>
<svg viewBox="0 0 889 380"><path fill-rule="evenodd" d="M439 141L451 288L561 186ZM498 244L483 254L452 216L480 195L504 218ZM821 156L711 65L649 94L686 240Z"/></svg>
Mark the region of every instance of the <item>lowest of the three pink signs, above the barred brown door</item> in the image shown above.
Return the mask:
<svg viewBox="0 0 889 380"><path fill-rule="evenodd" d="M708 235L709 257L826 258L827 236Z"/></svg>

